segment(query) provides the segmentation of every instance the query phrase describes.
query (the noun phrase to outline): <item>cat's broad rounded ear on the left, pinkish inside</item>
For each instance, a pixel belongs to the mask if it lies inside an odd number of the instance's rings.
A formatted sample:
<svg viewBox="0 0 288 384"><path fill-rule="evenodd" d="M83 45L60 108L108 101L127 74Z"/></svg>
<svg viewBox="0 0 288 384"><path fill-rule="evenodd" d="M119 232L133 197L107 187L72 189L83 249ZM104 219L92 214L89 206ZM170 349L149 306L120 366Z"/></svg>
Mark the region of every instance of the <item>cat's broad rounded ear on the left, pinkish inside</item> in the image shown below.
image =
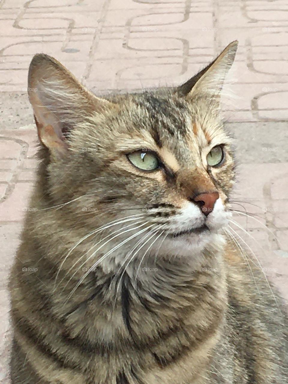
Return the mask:
<svg viewBox="0 0 288 384"><path fill-rule="evenodd" d="M89 92L63 65L44 54L35 55L30 63L28 96L39 139L50 151L66 151L74 126L113 106Z"/></svg>

